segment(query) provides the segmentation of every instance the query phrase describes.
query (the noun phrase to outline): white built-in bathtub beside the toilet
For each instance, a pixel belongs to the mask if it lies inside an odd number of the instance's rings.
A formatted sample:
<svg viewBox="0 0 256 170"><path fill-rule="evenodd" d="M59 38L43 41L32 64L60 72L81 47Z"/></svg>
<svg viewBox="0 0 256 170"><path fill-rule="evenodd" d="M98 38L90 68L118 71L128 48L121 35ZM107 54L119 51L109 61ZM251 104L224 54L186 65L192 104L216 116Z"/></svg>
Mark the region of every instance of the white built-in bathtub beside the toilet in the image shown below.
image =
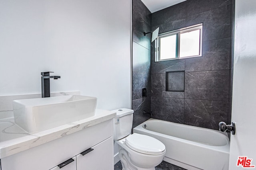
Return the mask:
<svg viewBox="0 0 256 170"><path fill-rule="evenodd" d="M149 119L133 133L152 136L166 146L164 160L188 170L228 170L230 142L227 133Z"/></svg>

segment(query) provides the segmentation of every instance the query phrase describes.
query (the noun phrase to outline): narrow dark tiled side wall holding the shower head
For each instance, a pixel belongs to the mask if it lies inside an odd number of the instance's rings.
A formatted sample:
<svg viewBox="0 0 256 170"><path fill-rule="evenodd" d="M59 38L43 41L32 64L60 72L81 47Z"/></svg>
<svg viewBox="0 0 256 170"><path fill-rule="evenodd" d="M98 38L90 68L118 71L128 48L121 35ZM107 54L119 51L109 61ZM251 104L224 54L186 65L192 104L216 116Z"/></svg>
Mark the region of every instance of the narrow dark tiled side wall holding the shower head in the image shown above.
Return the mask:
<svg viewBox="0 0 256 170"><path fill-rule="evenodd" d="M150 118L143 111L151 111L150 46L151 12L141 2L132 0L132 109L133 127ZM147 97L142 97L142 88L147 88Z"/></svg>

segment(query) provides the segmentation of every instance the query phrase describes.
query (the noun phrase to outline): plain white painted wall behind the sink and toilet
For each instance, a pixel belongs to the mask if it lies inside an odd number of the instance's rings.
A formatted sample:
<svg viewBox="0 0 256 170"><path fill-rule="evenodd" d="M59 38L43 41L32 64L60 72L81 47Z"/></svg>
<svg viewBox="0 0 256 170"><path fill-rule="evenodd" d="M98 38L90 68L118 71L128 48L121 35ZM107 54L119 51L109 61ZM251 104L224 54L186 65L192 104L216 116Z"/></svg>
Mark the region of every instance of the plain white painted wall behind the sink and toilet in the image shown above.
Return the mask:
<svg viewBox="0 0 256 170"><path fill-rule="evenodd" d="M51 92L131 108L131 0L0 0L0 96Z"/></svg>

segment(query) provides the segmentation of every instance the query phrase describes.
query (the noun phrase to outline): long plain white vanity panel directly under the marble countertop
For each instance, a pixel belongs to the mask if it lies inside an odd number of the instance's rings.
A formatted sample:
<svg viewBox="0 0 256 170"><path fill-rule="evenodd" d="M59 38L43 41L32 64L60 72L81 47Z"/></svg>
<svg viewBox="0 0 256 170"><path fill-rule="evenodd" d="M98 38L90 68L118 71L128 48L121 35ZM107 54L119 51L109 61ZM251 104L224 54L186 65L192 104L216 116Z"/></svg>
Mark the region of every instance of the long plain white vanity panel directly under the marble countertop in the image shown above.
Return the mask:
<svg viewBox="0 0 256 170"><path fill-rule="evenodd" d="M108 139L112 119L1 159L2 170L47 170ZM68 131L66 132L68 133ZM63 135L66 135L63 133Z"/></svg>

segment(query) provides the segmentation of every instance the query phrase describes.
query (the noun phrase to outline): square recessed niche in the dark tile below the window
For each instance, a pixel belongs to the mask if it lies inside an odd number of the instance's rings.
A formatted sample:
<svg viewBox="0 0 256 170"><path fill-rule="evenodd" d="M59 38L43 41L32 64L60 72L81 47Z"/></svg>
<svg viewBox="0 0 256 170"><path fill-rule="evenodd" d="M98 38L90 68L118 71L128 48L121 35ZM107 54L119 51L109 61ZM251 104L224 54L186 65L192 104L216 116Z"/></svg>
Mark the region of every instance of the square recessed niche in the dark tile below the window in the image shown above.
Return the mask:
<svg viewBox="0 0 256 170"><path fill-rule="evenodd" d="M184 92L184 71L170 71L166 74L166 91L168 92Z"/></svg>

